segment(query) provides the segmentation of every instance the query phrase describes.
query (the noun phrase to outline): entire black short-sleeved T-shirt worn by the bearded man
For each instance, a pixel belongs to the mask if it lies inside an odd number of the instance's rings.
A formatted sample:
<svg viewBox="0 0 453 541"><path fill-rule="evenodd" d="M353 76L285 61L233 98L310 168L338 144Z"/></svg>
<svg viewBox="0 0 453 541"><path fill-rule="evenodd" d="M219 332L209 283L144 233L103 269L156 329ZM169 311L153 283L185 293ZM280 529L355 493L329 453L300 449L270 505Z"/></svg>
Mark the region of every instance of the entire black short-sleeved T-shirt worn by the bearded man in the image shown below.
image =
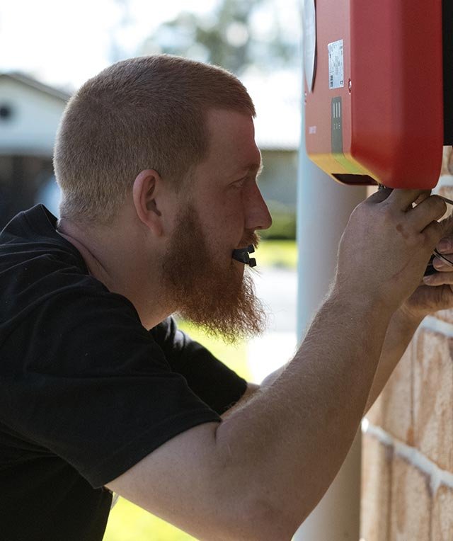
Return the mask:
<svg viewBox="0 0 453 541"><path fill-rule="evenodd" d="M101 540L103 485L246 382L88 274L42 205L0 233L0 537Z"/></svg>

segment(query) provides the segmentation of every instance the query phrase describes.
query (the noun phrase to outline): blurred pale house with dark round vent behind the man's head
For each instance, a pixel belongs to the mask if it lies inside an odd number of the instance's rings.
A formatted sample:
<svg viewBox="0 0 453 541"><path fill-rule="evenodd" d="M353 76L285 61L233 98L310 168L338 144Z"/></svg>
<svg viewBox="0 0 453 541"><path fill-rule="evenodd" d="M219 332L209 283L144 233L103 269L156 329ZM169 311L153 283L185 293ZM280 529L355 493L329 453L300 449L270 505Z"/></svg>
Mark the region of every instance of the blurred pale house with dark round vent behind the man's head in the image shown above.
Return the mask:
<svg viewBox="0 0 453 541"><path fill-rule="evenodd" d="M38 200L57 210L52 149L68 99L30 76L0 74L0 227Z"/></svg>

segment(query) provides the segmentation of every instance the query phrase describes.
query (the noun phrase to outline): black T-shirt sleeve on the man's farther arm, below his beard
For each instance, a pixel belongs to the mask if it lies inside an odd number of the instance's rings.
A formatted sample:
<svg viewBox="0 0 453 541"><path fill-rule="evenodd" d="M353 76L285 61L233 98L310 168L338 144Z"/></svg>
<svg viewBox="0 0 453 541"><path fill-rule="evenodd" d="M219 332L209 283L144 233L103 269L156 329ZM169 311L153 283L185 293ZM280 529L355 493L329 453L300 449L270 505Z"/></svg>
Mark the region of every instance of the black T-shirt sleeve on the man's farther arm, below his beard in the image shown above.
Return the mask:
<svg viewBox="0 0 453 541"><path fill-rule="evenodd" d="M180 331L173 317L151 329L171 368L185 377L190 389L218 414L246 392L247 382L200 343Z"/></svg>

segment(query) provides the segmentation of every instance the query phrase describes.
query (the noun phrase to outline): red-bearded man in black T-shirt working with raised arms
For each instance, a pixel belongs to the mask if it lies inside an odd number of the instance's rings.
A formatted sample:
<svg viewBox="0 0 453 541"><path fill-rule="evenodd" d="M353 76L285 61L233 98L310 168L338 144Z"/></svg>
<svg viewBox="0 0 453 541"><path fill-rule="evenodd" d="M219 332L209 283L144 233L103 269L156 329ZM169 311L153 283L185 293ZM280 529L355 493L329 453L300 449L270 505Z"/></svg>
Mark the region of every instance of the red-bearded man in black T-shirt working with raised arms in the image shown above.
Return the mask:
<svg viewBox="0 0 453 541"><path fill-rule="evenodd" d="M201 540L289 540L421 319L453 306L452 273L419 285L445 203L384 190L352 213L302 346L260 387L177 331L174 312L230 339L263 326L235 258L271 223L254 114L234 76L168 56L118 62L69 101L61 220L33 207L0 236L9 541L101 540L110 491Z"/></svg>

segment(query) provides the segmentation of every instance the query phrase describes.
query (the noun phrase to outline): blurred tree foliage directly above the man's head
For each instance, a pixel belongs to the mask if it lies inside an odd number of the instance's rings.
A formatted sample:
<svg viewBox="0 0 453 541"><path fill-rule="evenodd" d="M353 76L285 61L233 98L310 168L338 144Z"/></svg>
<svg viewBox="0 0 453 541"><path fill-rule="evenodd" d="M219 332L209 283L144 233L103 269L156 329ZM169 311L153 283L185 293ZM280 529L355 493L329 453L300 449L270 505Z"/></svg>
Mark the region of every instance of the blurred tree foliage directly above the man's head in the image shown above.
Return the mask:
<svg viewBox="0 0 453 541"><path fill-rule="evenodd" d="M184 11L160 25L142 52L183 55L236 74L254 64L268 69L294 65L298 43L282 28L277 8L270 0L222 0L204 16Z"/></svg>

